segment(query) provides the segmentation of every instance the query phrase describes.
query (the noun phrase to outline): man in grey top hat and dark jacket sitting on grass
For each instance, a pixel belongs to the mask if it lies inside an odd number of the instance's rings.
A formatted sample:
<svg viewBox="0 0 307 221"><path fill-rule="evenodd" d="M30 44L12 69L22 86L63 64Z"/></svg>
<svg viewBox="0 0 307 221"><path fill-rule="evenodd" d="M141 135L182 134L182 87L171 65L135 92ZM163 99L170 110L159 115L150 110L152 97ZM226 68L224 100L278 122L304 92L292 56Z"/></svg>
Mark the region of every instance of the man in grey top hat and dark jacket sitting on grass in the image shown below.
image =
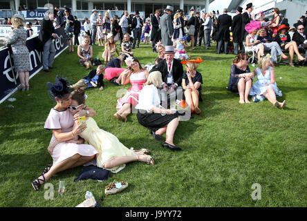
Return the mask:
<svg viewBox="0 0 307 221"><path fill-rule="evenodd" d="M161 102L164 108L171 104L174 108L177 99L183 99L183 65L174 59L174 46L165 46L165 59L151 68L150 73L156 70L162 74L162 88L160 89ZM149 74L150 74L149 73Z"/></svg>

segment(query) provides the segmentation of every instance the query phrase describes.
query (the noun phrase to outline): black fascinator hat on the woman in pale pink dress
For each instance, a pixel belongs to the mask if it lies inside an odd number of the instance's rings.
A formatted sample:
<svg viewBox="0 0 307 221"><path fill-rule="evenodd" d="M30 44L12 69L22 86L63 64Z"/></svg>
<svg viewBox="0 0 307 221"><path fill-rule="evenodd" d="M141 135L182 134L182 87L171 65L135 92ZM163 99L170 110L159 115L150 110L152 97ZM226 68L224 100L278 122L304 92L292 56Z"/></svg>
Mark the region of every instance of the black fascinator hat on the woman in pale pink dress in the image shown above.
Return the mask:
<svg viewBox="0 0 307 221"><path fill-rule="evenodd" d="M68 81L64 77L55 77L55 84L48 82L48 95L51 99L55 100L55 97L59 99L64 99L66 95L71 93L71 88L69 87Z"/></svg>

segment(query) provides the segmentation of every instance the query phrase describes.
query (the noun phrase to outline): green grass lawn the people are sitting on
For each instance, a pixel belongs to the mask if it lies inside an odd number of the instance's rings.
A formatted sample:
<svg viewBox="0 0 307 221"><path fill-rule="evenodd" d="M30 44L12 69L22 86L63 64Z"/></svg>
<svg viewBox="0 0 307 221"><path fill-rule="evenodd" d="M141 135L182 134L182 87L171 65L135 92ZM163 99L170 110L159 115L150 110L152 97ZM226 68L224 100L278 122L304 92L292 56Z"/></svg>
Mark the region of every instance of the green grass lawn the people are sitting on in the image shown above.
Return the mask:
<svg viewBox="0 0 307 221"><path fill-rule="evenodd" d="M52 163L47 152L51 133L44 123L55 103L48 97L46 82L54 82L56 75L75 82L88 75L89 70L78 64L76 50L57 57L51 73L30 79L28 92L12 95L16 102L0 104L0 206L76 206L87 190L100 198L113 180L124 180L129 187L106 196L101 206L307 206L307 68L275 68L283 93L279 101L287 100L283 110L267 100L239 104L239 95L226 90L234 55L216 55L215 46L189 51L193 58L205 60L198 68L203 102L200 117L178 126L174 142L183 151L162 148L163 141L153 140L135 114L127 123L115 119L116 93L129 85L104 81L103 91L86 91L86 105L97 111L98 126L129 148L149 148L156 164L127 164L103 182L73 182L80 167L64 171L48 182L55 195L45 200L44 185L35 192L30 182ZM157 56L149 45L134 51L141 64L154 63ZM95 46L94 55L101 58L102 48ZM60 180L66 184L63 197L57 194ZM254 183L261 185L261 200L252 200Z"/></svg>

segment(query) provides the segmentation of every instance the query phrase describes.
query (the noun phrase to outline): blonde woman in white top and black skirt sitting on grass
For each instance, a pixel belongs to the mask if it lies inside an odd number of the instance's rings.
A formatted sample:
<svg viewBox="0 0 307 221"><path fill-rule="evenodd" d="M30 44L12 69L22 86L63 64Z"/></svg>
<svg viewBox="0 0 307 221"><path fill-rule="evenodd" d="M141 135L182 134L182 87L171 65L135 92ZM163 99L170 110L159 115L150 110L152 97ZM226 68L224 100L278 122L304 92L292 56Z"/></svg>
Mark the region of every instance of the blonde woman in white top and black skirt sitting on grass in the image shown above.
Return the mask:
<svg viewBox="0 0 307 221"><path fill-rule="evenodd" d="M160 71L150 73L144 88L140 92L138 109L138 122L151 131L155 140L161 140L161 135L166 133L166 140L163 147L172 151L181 151L181 148L174 144L174 134L179 124L179 117L176 110L169 110L160 106L160 95L158 88L162 85Z"/></svg>

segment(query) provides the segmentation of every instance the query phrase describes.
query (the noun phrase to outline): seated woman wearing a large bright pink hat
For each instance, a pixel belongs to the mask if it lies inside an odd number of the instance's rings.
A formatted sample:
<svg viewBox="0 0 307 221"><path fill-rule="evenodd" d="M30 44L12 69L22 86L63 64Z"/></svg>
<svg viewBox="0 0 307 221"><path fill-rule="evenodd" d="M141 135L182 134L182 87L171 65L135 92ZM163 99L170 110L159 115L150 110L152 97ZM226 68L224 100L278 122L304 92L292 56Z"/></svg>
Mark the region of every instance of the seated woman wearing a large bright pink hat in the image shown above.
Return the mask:
<svg viewBox="0 0 307 221"><path fill-rule="evenodd" d="M254 51L258 55L258 60L261 56L264 55L264 46L261 43L260 40L257 39L257 30L260 28L261 23L260 21L251 21L251 23L247 23L245 25L245 30L248 32L248 35L246 35L246 49L248 51Z"/></svg>

